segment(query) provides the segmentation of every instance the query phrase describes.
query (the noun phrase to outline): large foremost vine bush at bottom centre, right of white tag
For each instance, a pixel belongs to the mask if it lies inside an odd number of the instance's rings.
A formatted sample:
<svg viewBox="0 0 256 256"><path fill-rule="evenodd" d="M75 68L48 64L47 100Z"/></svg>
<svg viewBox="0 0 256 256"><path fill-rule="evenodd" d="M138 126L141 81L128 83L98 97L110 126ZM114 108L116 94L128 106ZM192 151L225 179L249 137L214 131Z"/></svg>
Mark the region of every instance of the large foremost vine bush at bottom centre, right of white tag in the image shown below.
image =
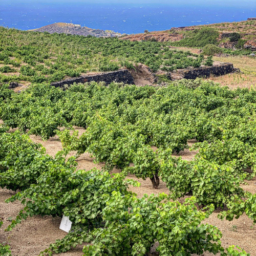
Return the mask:
<svg viewBox="0 0 256 256"><path fill-rule="evenodd" d="M183 205L161 202L166 198L165 194L152 194L137 199L113 192L102 212L105 228L89 233L87 242L93 245L84 247L84 256L143 256L155 241L159 242L156 250L162 256L223 251L220 231L201 224L208 214L197 210L195 198L187 199Z"/></svg>

